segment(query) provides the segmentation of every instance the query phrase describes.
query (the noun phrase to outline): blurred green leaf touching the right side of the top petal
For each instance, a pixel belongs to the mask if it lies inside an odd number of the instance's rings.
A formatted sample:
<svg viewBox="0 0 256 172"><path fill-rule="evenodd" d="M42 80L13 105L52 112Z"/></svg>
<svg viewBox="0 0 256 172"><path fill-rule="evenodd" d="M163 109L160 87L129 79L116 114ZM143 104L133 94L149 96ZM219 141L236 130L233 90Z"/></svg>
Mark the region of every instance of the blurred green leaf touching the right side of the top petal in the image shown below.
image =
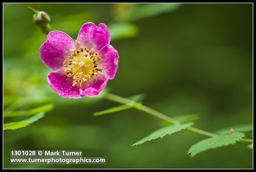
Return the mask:
<svg viewBox="0 0 256 172"><path fill-rule="evenodd" d="M111 40L118 40L138 35L138 27L132 23L115 23L108 26Z"/></svg>

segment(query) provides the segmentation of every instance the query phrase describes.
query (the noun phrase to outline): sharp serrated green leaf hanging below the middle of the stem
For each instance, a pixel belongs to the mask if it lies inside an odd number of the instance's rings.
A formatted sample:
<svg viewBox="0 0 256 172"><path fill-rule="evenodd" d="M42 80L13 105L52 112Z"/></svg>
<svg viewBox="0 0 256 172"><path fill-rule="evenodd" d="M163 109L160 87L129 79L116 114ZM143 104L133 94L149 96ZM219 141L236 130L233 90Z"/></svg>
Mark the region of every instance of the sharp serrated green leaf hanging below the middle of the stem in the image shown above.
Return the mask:
<svg viewBox="0 0 256 172"><path fill-rule="evenodd" d="M139 140L135 144L132 144L132 146L135 146L135 145L138 145L138 144L143 144L146 141L150 141L150 140L153 140L153 139L158 139L159 137L162 138L163 136L165 136L167 134L170 135L174 132L185 129L188 126L191 126L192 124L193 124L193 122L188 122L188 123L185 123L185 124L171 125L171 126L162 127L160 129L154 131L150 135L144 137L143 139Z"/></svg>

